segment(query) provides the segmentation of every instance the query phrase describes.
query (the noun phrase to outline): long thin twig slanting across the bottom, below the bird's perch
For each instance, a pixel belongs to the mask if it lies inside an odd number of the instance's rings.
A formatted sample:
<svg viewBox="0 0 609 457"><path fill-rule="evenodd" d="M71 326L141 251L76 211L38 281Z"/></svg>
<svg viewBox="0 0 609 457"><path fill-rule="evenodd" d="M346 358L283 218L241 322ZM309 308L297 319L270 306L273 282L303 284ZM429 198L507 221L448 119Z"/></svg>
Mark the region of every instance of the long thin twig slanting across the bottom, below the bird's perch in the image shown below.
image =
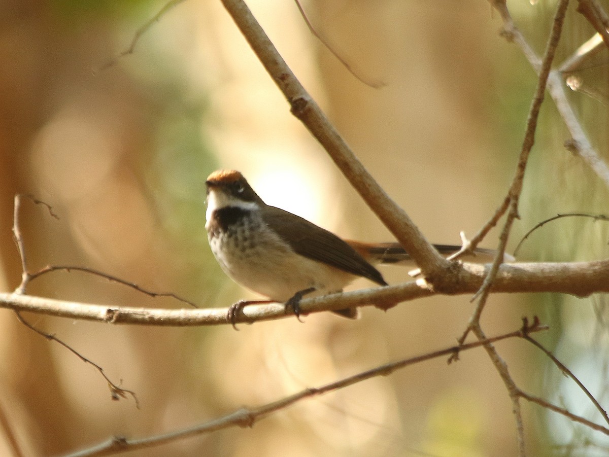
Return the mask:
<svg viewBox="0 0 609 457"><path fill-rule="evenodd" d="M515 332L505 333L504 335L499 335L498 337L488 338L486 340L465 344L464 346L459 348L457 348L456 346L448 347L446 349L430 352L429 354L420 355L418 357L406 358L396 362L377 366L376 368L370 369L368 371L360 372L353 376L345 377L343 379L328 383L323 386L319 386L317 388L303 389L302 391L297 392L289 397L284 397L283 399L276 400L275 402L267 403L263 406L258 406L258 408L241 408L241 410L234 411L234 413L228 414L227 416L222 416L219 419L211 420L200 425L195 425L194 427L189 427L183 430L177 430L171 433L151 436L149 438L142 439L130 440L124 437L114 437L93 447L84 449L80 452L71 453L65 457L97 457L121 452L130 452L137 449L149 448L153 446L158 446L160 444L166 444L167 442L187 438L189 436L209 433L210 431L216 431L222 428L253 427L253 425L256 424L256 422L258 422L259 420L264 419L265 417L269 416L270 414L276 413L277 411L284 410L289 406L300 402L303 399L320 396L323 394L327 394L328 392L337 391L339 389L346 388L348 386L374 377L388 376L398 369L403 369L407 366L412 366L423 361L432 360L433 358L445 357L446 355L451 354L451 352L456 351L456 349L465 351L468 349L474 349L475 347L480 347L487 343L495 343L497 341L505 340L507 338L523 337L523 335L526 333L547 330L547 327L540 325L539 321L535 320L534 323L535 324L533 326L526 328L523 327L519 330L516 330Z"/></svg>

